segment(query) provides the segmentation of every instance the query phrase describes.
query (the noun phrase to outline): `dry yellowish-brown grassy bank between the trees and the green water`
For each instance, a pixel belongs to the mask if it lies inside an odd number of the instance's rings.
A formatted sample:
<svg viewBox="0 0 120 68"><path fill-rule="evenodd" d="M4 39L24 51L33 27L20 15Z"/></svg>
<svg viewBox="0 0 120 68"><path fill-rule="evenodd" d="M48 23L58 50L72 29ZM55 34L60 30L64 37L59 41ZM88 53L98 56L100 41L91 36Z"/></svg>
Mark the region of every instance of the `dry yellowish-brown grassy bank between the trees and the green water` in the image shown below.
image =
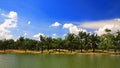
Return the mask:
<svg viewBox="0 0 120 68"><path fill-rule="evenodd" d="M1 53L18 53L18 54L120 54L120 52L113 52L113 51L96 51L96 52L92 52L92 51L88 51L88 52L78 52L78 51L73 51L72 53L70 51L65 51L65 52L58 52L58 51L47 51L45 50L43 53L41 53L41 51L33 51L33 50L0 50L0 54Z"/></svg>

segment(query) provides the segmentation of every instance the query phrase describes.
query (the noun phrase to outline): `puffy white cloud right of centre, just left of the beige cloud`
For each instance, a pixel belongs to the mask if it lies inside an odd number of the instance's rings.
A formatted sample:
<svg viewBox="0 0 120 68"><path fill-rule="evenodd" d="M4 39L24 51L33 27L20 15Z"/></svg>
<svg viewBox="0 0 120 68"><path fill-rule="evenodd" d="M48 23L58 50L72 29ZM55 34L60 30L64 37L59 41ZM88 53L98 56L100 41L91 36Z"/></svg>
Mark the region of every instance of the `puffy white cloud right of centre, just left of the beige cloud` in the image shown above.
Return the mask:
<svg viewBox="0 0 120 68"><path fill-rule="evenodd" d="M78 34L79 31L86 32L85 29L79 28L76 25L73 25L72 23L66 23L63 25L63 28L69 29L70 33Z"/></svg>

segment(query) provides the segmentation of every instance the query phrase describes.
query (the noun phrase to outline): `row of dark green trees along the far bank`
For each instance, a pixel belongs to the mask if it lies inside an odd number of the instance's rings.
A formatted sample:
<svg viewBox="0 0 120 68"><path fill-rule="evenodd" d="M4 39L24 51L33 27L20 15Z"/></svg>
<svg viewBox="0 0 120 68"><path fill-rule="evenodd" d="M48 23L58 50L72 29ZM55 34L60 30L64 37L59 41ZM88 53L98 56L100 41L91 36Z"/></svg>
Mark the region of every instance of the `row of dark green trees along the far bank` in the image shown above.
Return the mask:
<svg viewBox="0 0 120 68"><path fill-rule="evenodd" d="M69 33L62 38L44 37L40 35L40 41L29 38L20 37L16 41L13 39L0 40L0 50L16 49L16 50L36 50L43 53L44 50L75 50L88 51L89 49L95 52L96 49L107 50L112 49L114 52L120 50L120 31L111 34L111 30L106 29L106 34L98 36L86 32L79 32L77 35Z"/></svg>

